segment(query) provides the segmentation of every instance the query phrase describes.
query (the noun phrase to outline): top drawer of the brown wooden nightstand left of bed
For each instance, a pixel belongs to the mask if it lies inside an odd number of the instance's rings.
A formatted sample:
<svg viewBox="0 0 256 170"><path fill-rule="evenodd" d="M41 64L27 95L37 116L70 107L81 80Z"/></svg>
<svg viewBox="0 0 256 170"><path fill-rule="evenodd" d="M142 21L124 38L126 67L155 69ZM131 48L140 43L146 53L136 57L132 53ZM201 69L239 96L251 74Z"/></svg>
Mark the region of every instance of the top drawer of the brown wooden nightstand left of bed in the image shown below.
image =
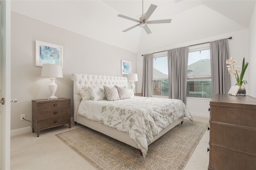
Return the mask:
<svg viewBox="0 0 256 170"><path fill-rule="evenodd" d="M36 106L34 106L36 105ZM58 109L61 107L69 107L71 106L70 101L63 102L50 102L50 103L34 103L32 108L37 108L37 110L46 110L46 109Z"/></svg>

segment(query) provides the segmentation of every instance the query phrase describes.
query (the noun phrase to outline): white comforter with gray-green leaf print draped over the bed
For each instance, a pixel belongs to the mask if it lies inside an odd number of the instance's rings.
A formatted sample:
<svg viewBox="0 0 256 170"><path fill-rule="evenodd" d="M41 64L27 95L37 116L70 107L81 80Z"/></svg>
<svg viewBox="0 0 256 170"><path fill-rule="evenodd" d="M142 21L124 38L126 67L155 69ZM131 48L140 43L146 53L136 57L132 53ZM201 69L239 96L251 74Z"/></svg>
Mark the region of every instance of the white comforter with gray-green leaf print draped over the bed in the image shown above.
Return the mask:
<svg viewBox="0 0 256 170"><path fill-rule="evenodd" d="M84 100L78 107L78 114L128 133L138 144L144 158L153 136L162 129L180 117L188 117L192 121L188 108L181 100L138 96L116 101Z"/></svg>

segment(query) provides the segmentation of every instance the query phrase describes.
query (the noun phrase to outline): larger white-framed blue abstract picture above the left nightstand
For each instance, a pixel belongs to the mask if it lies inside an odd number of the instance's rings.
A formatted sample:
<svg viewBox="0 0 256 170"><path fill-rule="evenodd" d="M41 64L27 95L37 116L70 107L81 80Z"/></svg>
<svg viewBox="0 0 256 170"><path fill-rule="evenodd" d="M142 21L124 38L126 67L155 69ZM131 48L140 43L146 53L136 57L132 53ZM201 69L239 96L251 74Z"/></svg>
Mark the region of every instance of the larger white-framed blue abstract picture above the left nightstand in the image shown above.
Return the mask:
<svg viewBox="0 0 256 170"><path fill-rule="evenodd" d="M63 68L63 47L36 41L36 66L43 64L58 64Z"/></svg>

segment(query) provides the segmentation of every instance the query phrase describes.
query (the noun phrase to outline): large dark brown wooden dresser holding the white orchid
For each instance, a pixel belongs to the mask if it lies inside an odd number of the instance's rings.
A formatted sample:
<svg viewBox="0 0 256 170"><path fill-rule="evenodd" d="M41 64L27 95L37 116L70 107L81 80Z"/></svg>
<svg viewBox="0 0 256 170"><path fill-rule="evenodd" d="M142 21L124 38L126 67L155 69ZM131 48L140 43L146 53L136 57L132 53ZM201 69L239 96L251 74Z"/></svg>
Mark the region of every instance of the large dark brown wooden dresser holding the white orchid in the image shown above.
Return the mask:
<svg viewBox="0 0 256 170"><path fill-rule="evenodd" d="M256 170L256 98L217 94L209 122L208 170Z"/></svg>

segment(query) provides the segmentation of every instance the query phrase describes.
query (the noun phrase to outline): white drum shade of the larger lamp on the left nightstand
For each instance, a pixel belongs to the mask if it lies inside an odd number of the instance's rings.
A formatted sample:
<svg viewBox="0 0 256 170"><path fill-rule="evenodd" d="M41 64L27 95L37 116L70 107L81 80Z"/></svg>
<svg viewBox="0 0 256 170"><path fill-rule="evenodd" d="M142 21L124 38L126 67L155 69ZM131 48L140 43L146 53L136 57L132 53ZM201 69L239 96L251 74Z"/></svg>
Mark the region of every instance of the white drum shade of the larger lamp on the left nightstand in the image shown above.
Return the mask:
<svg viewBox="0 0 256 170"><path fill-rule="evenodd" d="M62 78L62 66L57 64L43 64L41 77Z"/></svg>

